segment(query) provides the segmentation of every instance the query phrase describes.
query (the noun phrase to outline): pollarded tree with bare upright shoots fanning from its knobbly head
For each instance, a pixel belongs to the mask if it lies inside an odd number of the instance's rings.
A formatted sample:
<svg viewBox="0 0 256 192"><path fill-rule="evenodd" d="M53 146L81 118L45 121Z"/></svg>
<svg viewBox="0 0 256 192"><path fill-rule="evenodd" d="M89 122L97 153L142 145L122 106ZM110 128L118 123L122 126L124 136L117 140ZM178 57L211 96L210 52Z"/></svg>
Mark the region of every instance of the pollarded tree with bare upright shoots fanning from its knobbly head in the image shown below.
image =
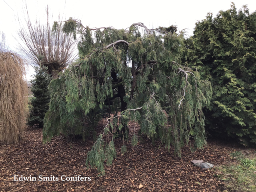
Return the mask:
<svg viewBox="0 0 256 192"><path fill-rule="evenodd" d="M28 10L27 10L28 12ZM58 73L66 68L76 57L76 40L62 32L61 25L52 31L48 6L46 9L47 23L31 21L29 15L26 25L18 31L20 37L19 50L32 65L47 67L52 78L58 78Z"/></svg>

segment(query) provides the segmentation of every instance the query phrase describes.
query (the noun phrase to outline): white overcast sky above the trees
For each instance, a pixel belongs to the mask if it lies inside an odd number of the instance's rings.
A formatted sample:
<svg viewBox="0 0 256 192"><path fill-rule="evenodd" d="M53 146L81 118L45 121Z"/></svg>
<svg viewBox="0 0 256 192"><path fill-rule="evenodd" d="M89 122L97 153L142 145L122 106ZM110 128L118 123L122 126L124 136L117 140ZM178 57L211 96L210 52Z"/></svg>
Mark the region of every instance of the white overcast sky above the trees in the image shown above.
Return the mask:
<svg viewBox="0 0 256 192"><path fill-rule="evenodd" d="M233 0L237 10L247 4L251 12L256 10L255 0ZM148 28L177 25L179 30L187 28L193 34L195 23L203 20L208 12L215 16L220 10L230 9L230 0L0 0L0 31L6 35L10 50L16 51L18 17L24 21L25 4L32 20L46 22L46 6L52 20L69 17L80 19L84 26L127 28L132 23L143 22ZM31 79L33 70L28 70Z"/></svg>

